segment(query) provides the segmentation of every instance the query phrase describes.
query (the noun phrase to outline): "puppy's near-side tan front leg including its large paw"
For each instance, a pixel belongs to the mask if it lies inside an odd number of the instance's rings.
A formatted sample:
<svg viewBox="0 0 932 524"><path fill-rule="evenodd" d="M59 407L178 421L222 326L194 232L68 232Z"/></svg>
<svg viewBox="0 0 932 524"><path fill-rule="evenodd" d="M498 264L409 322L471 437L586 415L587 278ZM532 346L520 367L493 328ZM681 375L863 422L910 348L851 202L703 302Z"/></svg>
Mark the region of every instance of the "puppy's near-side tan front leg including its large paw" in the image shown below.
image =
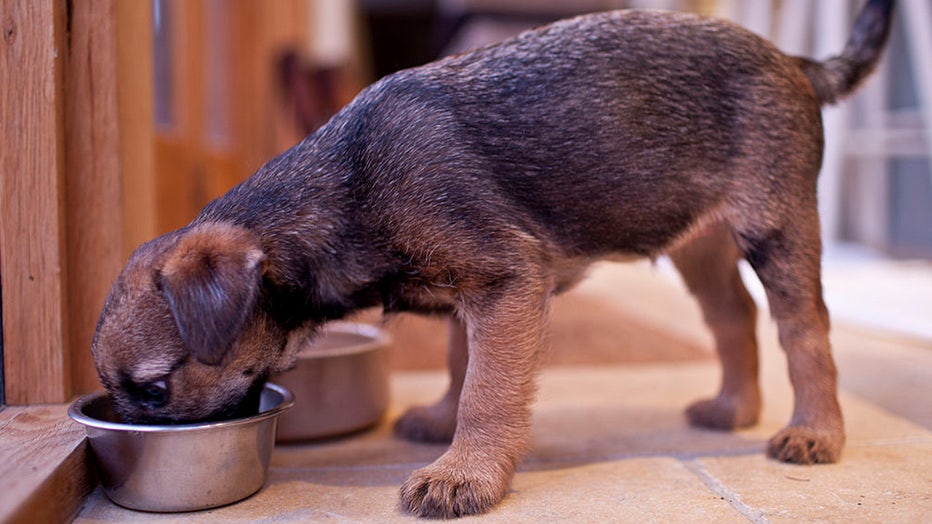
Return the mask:
<svg viewBox="0 0 932 524"><path fill-rule="evenodd" d="M406 511L452 518L483 513L504 498L528 445L548 291L509 286L465 300L469 362L453 443L404 483Z"/></svg>

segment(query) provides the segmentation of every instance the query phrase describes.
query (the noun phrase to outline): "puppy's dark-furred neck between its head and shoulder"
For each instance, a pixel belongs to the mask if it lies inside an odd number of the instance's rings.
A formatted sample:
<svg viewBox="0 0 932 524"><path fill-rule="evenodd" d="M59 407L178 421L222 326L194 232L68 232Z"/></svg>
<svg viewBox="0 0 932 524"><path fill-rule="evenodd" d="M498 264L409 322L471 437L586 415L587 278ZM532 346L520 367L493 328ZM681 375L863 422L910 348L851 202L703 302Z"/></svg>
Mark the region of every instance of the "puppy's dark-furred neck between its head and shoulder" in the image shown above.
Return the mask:
<svg viewBox="0 0 932 524"><path fill-rule="evenodd" d="M376 305L373 283L386 264L360 239L344 161L311 136L208 204L192 225L232 223L252 231L265 255L262 306L286 328L341 318ZM287 174L287 176L285 176Z"/></svg>

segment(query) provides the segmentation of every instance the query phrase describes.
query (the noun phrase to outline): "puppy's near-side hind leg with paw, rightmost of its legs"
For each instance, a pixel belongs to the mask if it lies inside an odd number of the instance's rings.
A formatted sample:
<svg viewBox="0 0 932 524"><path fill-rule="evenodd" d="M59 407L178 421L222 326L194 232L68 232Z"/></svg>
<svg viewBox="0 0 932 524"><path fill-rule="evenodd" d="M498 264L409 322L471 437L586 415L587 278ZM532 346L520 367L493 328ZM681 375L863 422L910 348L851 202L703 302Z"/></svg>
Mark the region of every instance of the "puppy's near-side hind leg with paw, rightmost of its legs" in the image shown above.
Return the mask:
<svg viewBox="0 0 932 524"><path fill-rule="evenodd" d="M795 395L793 417L768 443L768 454L799 464L836 462L845 433L837 372L822 298L821 241L815 206L780 230L743 235L748 261L767 291L787 356Z"/></svg>

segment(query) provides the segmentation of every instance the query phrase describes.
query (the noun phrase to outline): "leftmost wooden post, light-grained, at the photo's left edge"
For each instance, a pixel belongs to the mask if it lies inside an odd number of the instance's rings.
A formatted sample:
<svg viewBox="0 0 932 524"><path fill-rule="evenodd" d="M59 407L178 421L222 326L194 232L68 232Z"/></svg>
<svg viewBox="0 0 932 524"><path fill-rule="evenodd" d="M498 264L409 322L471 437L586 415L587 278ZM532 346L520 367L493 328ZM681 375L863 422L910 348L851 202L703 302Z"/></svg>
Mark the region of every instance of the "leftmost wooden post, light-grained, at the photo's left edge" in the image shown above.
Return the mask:
<svg viewBox="0 0 932 524"><path fill-rule="evenodd" d="M71 392L65 308L64 2L0 3L0 278L10 404Z"/></svg>

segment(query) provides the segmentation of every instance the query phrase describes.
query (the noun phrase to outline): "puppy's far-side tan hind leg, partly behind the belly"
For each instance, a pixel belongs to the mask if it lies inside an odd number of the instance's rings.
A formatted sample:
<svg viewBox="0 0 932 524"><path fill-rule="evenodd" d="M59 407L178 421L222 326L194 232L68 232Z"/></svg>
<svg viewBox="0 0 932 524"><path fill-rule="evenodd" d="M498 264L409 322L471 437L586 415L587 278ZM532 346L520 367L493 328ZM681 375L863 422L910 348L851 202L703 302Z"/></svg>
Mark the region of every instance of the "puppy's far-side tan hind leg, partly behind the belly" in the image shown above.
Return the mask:
<svg viewBox="0 0 932 524"><path fill-rule="evenodd" d="M761 408L755 322L757 308L738 272L738 250L726 224L670 254L702 308L722 368L717 396L686 410L694 426L735 429L757 423Z"/></svg>

